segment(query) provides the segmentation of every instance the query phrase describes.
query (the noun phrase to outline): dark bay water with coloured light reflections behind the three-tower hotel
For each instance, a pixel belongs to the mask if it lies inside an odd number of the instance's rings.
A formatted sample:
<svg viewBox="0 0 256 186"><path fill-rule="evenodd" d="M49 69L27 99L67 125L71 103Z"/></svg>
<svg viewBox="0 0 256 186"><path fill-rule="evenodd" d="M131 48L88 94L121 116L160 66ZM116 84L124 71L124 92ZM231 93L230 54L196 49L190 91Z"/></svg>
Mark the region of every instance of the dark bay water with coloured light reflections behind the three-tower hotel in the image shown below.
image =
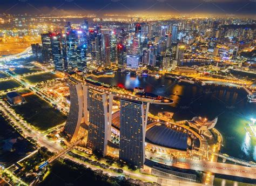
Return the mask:
<svg viewBox="0 0 256 186"><path fill-rule="evenodd" d="M160 111L173 112L174 120L187 120L194 116L204 116L214 119L218 116L216 128L229 136L225 139L222 153L230 156L256 160L256 146L246 136L246 121L255 116L256 104L249 104L245 99L247 93L242 89L223 86L199 86L178 83L171 79L154 77L134 77L129 74L116 73L113 78L94 78L109 85L122 85L133 89L142 87L146 92L170 97L174 100L172 105L151 104L150 112L157 114ZM249 117L250 116L250 117ZM235 140L235 141L234 141ZM254 140L255 141L255 140Z"/></svg>

